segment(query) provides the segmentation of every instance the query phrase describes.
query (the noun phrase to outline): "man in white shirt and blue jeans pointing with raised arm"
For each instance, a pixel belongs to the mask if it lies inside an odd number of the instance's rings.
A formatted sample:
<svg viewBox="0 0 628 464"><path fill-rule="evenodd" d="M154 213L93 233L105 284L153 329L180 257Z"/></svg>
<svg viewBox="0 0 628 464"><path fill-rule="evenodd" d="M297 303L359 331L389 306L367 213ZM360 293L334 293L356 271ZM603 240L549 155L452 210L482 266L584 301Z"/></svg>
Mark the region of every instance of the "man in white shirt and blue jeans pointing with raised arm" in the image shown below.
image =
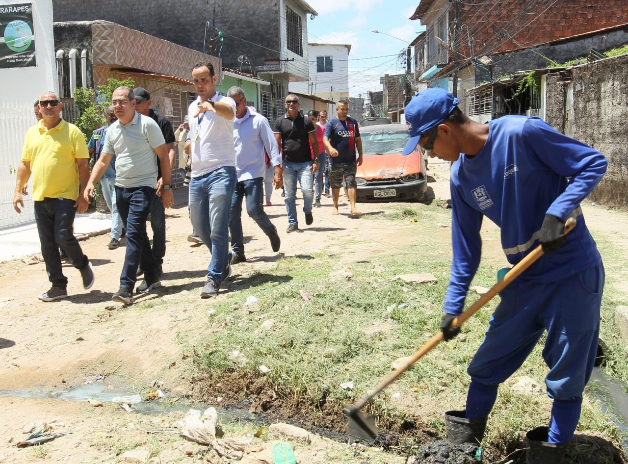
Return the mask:
<svg viewBox="0 0 628 464"><path fill-rule="evenodd" d="M197 63L192 80L198 97L188 108L192 157L190 219L212 254L200 294L201 298L210 298L231 275L229 208L236 188L236 102L216 92L217 75L212 63Z"/></svg>

